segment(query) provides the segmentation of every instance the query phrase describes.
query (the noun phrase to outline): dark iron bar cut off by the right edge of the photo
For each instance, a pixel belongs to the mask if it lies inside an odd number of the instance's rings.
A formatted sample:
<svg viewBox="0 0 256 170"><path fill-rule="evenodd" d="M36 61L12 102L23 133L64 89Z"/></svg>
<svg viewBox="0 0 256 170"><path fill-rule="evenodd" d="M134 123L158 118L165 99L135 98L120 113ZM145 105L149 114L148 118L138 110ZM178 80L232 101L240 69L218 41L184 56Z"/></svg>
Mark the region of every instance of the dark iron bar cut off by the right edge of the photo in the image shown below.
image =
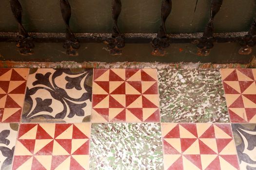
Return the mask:
<svg viewBox="0 0 256 170"><path fill-rule="evenodd" d="M239 40L241 48L238 53L243 55L248 55L252 52L252 48L256 45L256 19L251 25L248 34L244 35Z"/></svg>

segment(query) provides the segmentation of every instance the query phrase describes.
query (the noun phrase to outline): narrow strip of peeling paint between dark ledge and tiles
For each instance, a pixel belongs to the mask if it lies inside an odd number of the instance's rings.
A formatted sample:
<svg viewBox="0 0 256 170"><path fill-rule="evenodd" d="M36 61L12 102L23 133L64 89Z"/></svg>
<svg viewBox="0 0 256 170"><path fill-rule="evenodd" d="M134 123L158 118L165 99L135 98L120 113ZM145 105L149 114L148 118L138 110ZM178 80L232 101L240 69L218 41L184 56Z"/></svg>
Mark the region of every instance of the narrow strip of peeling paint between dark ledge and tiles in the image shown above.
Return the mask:
<svg viewBox="0 0 256 170"><path fill-rule="evenodd" d="M0 68L256 68L256 58L249 64L212 64L212 63L141 63L141 62L14 62L0 61Z"/></svg>

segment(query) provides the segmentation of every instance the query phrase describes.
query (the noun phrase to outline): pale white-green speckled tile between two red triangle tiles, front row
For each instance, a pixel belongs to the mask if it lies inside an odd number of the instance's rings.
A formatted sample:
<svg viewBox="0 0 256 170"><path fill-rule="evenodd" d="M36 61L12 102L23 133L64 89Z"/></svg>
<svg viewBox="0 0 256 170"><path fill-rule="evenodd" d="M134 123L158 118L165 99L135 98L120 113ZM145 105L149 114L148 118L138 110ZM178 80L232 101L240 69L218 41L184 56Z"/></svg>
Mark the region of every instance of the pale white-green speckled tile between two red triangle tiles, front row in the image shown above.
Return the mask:
<svg viewBox="0 0 256 170"><path fill-rule="evenodd" d="M159 123L92 124L91 170L162 170Z"/></svg>

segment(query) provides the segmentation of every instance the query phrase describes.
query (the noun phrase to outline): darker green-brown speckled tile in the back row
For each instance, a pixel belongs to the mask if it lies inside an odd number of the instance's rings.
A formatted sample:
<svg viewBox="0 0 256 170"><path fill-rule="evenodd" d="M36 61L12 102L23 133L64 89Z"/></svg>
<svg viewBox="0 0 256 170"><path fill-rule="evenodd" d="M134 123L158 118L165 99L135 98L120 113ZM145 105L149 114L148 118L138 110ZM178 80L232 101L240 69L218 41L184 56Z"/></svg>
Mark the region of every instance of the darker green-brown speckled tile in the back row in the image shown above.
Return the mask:
<svg viewBox="0 0 256 170"><path fill-rule="evenodd" d="M229 122L218 69L159 69L161 122Z"/></svg>

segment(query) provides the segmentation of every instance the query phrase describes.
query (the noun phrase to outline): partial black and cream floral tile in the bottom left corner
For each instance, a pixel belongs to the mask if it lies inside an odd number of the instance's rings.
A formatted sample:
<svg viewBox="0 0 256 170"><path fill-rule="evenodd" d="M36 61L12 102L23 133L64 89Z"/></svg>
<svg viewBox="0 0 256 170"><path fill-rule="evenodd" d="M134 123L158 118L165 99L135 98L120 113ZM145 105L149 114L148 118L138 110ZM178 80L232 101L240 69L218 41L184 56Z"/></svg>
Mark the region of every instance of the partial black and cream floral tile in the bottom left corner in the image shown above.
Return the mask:
<svg viewBox="0 0 256 170"><path fill-rule="evenodd" d="M0 170L11 170L18 123L0 123Z"/></svg>

